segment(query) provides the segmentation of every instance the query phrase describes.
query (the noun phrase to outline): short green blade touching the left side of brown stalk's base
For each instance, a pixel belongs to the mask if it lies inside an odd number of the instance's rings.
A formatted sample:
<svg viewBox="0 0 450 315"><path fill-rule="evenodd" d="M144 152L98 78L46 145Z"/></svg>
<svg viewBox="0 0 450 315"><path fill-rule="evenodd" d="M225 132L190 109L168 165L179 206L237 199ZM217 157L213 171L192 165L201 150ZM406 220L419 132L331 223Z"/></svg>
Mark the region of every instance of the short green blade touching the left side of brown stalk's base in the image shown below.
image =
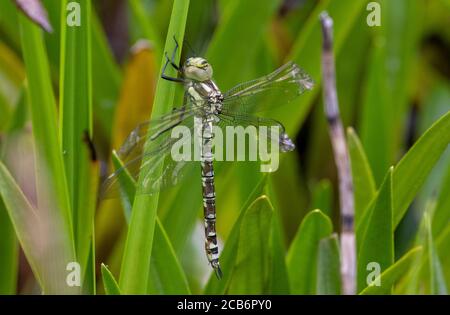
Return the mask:
<svg viewBox="0 0 450 315"><path fill-rule="evenodd" d="M319 242L317 256L317 294L340 294L339 241L336 234Z"/></svg>

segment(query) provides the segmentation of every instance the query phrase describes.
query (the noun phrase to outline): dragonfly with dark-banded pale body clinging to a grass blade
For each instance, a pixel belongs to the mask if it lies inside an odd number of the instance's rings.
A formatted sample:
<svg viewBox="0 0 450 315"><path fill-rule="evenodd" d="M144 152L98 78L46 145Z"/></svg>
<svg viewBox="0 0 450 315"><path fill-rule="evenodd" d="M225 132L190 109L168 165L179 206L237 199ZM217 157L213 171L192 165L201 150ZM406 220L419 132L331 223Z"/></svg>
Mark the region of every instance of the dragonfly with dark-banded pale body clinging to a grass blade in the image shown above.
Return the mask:
<svg viewBox="0 0 450 315"><path fill-rule="evenodd" d="M205 252L209 264L220 279L222 270L216 234L213 126L275 126L280 132L276 139L272 137L269 140L275 141L281 152L292 151L295 145L284 126L274 119L255 116L254 113L290 102L304 91L311 90L314 83L297 64L288 62L270 74L238 84L222 93L213 80L212 66L205 58L189 57L184 63L176 64L178 47L175 40L172 56L165 53L166 62L161 78L184 86L183 104L174 107L168 114L138 125L130 133L118 150L123 166L105 180L102 191L105 198L120 194L120 176L123 172L131 175L136 182L142 177L142 185L137 185L136 194L153 194L177 184L190 161L174 160L171 157L172 147L182 141L180 137L174 137L171 130L184 126L192 131L192 137L197 137L201 153L199 162ZM169 65L176 70L176 77L166 74ZM196 163L198 167L198 161Z"/></svg>

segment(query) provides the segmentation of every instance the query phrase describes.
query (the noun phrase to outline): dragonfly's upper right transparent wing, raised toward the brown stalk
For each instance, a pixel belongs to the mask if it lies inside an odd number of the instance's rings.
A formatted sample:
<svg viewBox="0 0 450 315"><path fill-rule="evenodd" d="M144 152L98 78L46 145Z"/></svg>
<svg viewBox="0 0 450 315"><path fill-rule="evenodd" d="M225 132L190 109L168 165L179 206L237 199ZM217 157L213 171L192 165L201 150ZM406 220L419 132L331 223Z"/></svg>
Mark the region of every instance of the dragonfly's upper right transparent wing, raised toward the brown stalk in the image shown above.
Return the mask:
<svg viewBox="0 0 450 315"><path fill-rule="evenodd" d="M234 112L261 112L286 104L313 86L314 82L306 72L288 62L264 77L227 91L223 108Z"/></svg>

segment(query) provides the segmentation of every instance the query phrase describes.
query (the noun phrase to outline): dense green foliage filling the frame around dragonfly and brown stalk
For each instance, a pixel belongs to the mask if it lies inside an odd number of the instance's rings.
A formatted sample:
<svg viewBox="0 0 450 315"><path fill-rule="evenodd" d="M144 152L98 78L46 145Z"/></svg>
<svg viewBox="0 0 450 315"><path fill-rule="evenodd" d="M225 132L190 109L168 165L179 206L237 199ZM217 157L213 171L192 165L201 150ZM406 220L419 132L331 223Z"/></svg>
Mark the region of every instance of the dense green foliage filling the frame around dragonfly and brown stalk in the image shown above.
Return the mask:
<svg viewBox="0 0 450 315"><path fill-rule="evenodd" d="M52 32L0 2L0 293L77 293L58 280L67 261L80 262L81 290L91 294L340 293L336 169L321 94L326 10L341 116L353 127L364 230L358 292L447 294L450 1L41 2ZM380 26L367 23L369 2L380 5ZM80 4L78 27L67 24L71 3ZM289 60L316 82L265 113L297 144L276 173L216 163L221 281L204 257L199 172L143 200L149 214L135 211L140 203L97 201L112 149L152 111L181 104L182 88L158 80L164 50L183 34L191 47L182 58L205 56L222 91ZM381 264L381 287L366 288L369 261Z"/></svg>

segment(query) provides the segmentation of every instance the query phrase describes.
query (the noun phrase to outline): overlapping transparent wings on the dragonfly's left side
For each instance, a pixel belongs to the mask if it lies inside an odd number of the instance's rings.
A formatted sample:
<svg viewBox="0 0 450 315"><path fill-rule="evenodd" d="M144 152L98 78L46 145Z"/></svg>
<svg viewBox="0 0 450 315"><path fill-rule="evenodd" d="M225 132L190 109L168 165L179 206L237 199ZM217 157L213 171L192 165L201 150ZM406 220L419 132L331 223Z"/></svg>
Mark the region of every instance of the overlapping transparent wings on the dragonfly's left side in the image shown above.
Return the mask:
<svg viewBox="0 0 450 315"><path fill-rule="evenodd" d="M136 182L140 174L143 185L136 187L136 194L152 194L176 185L192 160L174 160L172 147L191 146L194 141L194 114L201 109L180 107L160 118L136 127L118 150L123 167L117 169L103 182L101 199L118 198L121 187L119 177L127 172ZM180 127L184 133L173 134ZM145 153L144 153L145 152ZM192 151L193 152L193 151Z"/></svg>

